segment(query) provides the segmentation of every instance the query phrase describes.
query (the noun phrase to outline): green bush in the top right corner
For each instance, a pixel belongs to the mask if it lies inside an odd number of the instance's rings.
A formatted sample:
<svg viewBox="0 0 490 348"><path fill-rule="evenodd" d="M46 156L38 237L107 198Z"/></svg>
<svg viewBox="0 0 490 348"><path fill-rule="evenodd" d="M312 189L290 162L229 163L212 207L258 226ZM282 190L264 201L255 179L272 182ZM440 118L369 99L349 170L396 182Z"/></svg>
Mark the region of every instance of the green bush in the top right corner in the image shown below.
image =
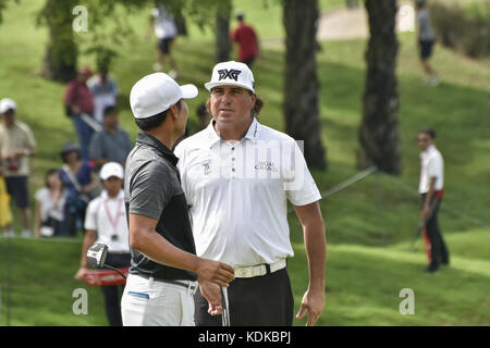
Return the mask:
<svg viewBox="0 0 490 348"><path fill-rule="evenodd" d="M473 58L490 55L490 4L429 5L440 42Z"/></svg>

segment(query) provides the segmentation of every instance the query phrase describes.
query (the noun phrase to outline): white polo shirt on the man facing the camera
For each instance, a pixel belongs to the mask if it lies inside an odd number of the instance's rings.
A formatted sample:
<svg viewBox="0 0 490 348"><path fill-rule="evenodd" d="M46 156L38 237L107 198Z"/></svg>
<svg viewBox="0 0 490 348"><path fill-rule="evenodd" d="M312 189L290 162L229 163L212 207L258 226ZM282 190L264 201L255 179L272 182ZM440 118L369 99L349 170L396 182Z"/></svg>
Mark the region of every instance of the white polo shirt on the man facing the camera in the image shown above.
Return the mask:
<svg viewBox="0 0 490 348"><path fill-rule="evenodd" d="M254 119L234 145L209 126L175 149L197 254L233 266L292 257L287 199L321 199L296 141Z"/></svg>

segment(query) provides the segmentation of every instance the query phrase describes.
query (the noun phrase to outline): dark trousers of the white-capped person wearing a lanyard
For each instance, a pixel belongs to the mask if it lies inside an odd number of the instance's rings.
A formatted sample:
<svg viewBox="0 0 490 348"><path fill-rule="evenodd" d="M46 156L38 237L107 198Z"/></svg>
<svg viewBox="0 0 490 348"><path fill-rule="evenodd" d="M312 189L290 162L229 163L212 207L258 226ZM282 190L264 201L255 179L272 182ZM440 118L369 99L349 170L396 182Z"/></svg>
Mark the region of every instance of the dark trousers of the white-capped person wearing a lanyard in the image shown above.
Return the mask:
<svg viewBox="0 0 490 348"><path fill-rule="evenodd" d="M128 268L131 264L130 253L108 253L106 263L118 269ZM106 303L106 314L110 326L122 326L121 296L124 291L123 285L101 286Z"/></svg>

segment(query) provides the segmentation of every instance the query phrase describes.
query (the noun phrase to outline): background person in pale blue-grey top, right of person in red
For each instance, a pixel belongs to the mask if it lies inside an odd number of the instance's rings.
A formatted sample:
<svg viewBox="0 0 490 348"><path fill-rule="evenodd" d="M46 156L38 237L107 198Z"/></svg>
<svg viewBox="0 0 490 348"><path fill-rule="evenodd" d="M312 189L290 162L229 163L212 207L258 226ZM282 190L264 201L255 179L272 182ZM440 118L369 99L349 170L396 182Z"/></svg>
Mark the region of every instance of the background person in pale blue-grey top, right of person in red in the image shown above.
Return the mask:
<svg viewBox="0 0 490 348"><path fill-rule="evenodd" d="M103 111L118 103L118 85L109 77L108 67L101 67L97 75L87 80L88 89L94 98L94 119L103 123Z"/></svg>

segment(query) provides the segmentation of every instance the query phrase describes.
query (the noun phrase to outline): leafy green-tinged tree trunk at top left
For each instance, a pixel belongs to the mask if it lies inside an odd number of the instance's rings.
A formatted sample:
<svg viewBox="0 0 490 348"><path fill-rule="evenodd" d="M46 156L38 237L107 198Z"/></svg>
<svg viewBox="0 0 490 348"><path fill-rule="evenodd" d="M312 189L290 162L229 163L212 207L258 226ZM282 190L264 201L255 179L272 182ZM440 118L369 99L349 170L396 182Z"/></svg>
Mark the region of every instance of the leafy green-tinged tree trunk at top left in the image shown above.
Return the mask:
<svg viewBox="0 0 490 348"><path fill-rule="evenodd" d="M49 79L69 82L76 76L78 50L72 28L75 5L73 0L47 0L39 15L49 33L42 66L42 75Z"/></svg>

